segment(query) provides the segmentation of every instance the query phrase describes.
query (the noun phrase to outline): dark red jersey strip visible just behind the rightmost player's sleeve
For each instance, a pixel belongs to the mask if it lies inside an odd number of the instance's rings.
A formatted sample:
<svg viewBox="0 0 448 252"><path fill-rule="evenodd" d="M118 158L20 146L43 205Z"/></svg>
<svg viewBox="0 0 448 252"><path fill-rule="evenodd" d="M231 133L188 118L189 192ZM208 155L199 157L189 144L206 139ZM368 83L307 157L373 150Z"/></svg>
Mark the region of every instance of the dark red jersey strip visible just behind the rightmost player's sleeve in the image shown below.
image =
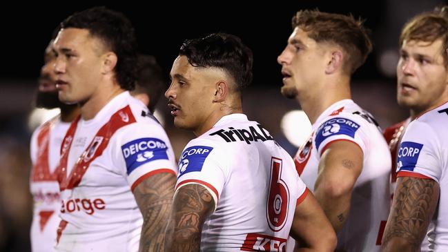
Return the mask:
<svg viewBox="0 0 448 252"><path fill-rule="evenodd" d="M398 124L393 124L392 126L386 128L382 135L386 139L387 144L389 145L389 151L391 151L391 199L393 198L393 192L397 187L397 155L398 155L398 146L400 146L401 138L405 133L406 127L411 122L411 117L405 119L403 122L399 122Z"/></svg>

